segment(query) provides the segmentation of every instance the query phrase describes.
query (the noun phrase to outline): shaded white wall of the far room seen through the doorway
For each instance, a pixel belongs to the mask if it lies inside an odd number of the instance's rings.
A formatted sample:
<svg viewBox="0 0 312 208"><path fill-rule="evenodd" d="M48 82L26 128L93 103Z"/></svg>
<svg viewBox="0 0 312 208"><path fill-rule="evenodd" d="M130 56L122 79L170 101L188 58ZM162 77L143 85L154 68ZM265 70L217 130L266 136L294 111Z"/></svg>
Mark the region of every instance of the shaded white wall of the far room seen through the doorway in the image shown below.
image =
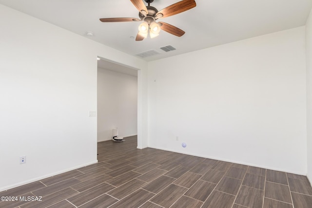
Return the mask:
<svg viewBox="0 0 312 208"><path fill-rule="evenodd" d="M137 135L137 76L98 68L98 142Z"/></svg>

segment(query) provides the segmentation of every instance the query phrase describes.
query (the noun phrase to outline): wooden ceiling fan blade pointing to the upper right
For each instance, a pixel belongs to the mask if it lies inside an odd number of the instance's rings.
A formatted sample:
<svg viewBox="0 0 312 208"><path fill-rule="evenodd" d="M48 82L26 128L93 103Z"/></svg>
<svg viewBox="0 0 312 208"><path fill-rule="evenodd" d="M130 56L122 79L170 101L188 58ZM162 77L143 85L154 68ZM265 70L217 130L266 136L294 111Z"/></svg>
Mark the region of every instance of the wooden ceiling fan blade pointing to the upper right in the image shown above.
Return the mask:
<svg viewBox="0 0 312 208"><path fill-rule="evenodd" d="M181 12L185 12L189 9L192 9L196 6L196 2L195 0L181 0L177 3L174 3L162 10L160 10L159 12L157 12L156 16L158 14L162 14L163 16L160 18L166 18L166 17L170 17L176 14L179 14Z"/></svg>

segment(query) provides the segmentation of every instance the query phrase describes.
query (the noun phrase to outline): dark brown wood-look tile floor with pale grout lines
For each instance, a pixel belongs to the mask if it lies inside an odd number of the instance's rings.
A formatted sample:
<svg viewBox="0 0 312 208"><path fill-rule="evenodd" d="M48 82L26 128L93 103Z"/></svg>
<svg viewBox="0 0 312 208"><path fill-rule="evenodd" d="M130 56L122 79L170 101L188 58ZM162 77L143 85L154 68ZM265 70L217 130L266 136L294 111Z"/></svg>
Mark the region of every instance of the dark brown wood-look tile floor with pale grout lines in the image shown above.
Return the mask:
<svg viewBox="0 0 312 208"><path fill-rule="evenodd" d="M0 192L0 208L312 208L306 176L176 152L137 136L98 143L98 163Z"/></svg>

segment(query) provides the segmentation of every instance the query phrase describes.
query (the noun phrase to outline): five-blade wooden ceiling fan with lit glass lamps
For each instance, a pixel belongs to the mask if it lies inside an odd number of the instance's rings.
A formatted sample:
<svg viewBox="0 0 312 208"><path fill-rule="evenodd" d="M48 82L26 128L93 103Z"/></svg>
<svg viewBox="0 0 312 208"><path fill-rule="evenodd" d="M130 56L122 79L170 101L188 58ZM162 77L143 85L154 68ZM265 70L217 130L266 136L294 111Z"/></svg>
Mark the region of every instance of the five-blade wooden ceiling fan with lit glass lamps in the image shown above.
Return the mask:
<svg viewBox="0 0 312 208"><path fill-rule="evenodd" d="M102 22L126 22L126 21L143 21L138 27L137 41L147 38L148 33L150 37L154 38L159 35L160 30L164 30L172 35L181 37L184 35L184 31L165 22L156 22L157 19L170 17L181 12L185 12L189 9L192 9L196 6L195 0L181 0L177 3L174 3L160 11L155 7L150 6L154 0L144 0L148 3L148 6L142 0L131 0L139 11L139 19L137 18L102 18L99 19Z"/></svg>

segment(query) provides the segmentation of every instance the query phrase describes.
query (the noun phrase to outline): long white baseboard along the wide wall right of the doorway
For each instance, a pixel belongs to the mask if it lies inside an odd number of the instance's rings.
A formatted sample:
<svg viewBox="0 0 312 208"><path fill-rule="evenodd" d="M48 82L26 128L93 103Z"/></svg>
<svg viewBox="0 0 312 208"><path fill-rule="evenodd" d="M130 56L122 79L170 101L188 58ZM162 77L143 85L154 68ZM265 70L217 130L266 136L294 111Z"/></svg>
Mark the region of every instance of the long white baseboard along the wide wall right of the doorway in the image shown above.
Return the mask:
<svg viewBox="0 0 312 208"><path fill-rule="evenodd" d="M230 163L237 163L237 164L246 165L246 166L253 166L253 167L257 167L257 168L264 168L264 169L268 169L268 170L289 172L289 173L298 174L298 175L307 175L306 172L293 172L293 171L288 171L288 170L280 170L280 169L275 169L275 168L267 167L267 166L259 166L259 165L255 165L255 164L242 163L242 162L234 161L234 160L226 160L223 158L217 158L217 157L211 157L211 156L208 157L207 155L193 154L193 153L189 153L189 152L176 151L176 150L170 150L170 149L166 149L166 148L158 148L158 147L153 147L153 146L148 146L148 147L158 149L158 150L172 151L172 152L177 152L177 153L182 153L182 154L193 155L193 156L197 156L197 157L204 157L204 158L209 158L209 159L214 159L214 160L221 160L221 161L230 162Z"/></svg>

